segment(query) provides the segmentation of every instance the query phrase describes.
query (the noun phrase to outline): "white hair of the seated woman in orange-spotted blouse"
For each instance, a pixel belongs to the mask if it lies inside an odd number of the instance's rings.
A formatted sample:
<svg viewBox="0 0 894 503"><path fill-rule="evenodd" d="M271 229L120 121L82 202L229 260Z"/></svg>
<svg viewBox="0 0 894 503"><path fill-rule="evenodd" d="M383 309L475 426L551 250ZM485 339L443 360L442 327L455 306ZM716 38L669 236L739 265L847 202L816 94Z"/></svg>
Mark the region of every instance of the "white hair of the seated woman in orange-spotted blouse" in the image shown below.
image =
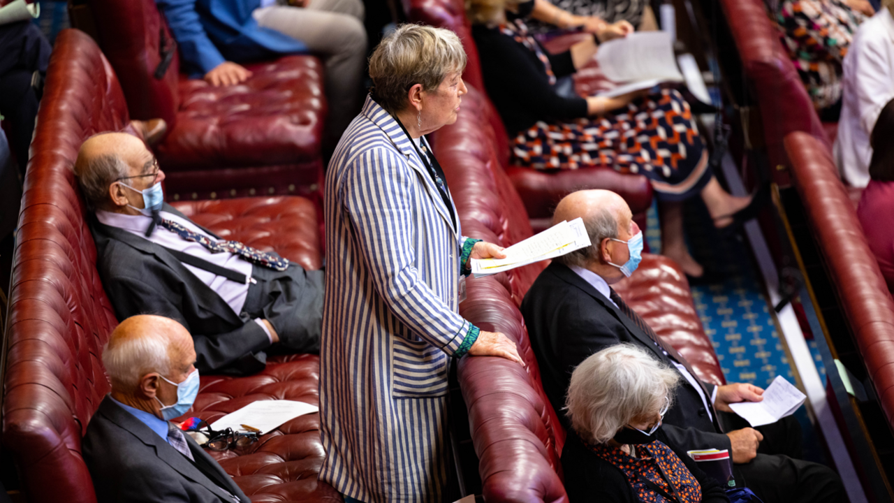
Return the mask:
<svg viewBox="0 0 894 503"><path fill-rule="evenodd" d="M565 408L587 442L603 444L625 424L659 413L673 401L679 373L632 344L591 354L571 374Z"/></svg>

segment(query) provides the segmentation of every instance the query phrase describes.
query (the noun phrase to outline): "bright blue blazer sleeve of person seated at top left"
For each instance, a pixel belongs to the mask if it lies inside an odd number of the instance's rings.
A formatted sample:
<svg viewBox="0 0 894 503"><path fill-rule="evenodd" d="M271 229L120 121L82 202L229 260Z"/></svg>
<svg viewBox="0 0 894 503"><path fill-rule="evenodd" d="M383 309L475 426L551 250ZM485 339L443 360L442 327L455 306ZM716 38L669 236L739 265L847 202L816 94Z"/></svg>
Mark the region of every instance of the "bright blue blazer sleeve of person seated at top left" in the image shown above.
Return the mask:
<svg viewBox="0 0 894 503"><path fill-rule="evenodd" d="M226 61L202 26L196 12L196 0L156 0L156 5L167 18L186 64L205 74Z"/></svg>

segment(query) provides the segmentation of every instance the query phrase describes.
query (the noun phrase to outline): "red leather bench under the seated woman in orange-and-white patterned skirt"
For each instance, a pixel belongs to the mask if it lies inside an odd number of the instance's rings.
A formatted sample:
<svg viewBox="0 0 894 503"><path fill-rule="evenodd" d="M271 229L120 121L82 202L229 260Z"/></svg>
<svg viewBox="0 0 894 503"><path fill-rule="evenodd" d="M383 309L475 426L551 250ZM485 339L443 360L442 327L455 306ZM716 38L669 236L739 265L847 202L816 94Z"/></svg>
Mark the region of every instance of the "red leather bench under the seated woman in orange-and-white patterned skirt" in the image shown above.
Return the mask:
<svg viewBox="0 0 894 503"><path fill-rule="evenodd" d="M471 24L466 19L463 0L403 0L407 18L412 22L423 22L432 26L448 28L459 35L466 49L468 64L463 79L477 90L484 90L478 50L472 38ZM585 72L584 79L576 81L578 90L586 90L601 76ZM465 98L464 98L465 99ZM610 167L596 167L578 170L538 171L521 166L510 166L510 144L500 115L490 99L483 111L485 119L496 133L496 157L506 170L510 180L518 189L527 215L535 231L549 226L552 210L562 197L580 189L598 188L618 192L627 200L634 218L640 226L645 223L645 211L652 205L652 185L643 175L621 175ZM645 227L644 227L645 228Z"/></svg>

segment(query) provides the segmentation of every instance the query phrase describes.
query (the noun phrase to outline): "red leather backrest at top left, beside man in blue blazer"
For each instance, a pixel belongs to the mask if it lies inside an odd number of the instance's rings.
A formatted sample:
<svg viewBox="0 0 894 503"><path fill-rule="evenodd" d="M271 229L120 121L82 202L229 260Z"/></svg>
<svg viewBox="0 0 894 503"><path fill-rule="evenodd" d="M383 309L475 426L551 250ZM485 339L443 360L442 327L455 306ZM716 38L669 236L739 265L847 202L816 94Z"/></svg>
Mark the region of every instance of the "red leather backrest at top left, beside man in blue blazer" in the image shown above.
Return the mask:
<svg viewBox="0 0 894 503"><path fill-rule="evenodd" d="M155 0L89 0L97 36L112 64L134 119L163 118L168 131L180 107L177 82L180 53ZM163 43L164 42L164 43ZM155 72L162 49L172 52L161 79Z"/></svg>

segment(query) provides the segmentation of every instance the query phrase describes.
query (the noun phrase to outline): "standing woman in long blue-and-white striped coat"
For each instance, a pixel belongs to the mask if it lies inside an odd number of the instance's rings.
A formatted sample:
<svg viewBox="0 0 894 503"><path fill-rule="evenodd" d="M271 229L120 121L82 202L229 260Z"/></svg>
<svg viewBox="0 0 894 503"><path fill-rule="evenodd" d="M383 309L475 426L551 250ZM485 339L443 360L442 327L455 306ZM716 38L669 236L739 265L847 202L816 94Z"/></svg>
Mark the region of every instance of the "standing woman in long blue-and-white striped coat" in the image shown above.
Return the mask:
<svg viewBox="0 0 894 503"><path fill-rule="evenodd" d="M394 30L326 174L320 480L348 503L441 501L448 360L521 362L509 338L458 314L469 258L504 255L462 236L423 136L456 122L465 67L452 31Z"/></svg>

